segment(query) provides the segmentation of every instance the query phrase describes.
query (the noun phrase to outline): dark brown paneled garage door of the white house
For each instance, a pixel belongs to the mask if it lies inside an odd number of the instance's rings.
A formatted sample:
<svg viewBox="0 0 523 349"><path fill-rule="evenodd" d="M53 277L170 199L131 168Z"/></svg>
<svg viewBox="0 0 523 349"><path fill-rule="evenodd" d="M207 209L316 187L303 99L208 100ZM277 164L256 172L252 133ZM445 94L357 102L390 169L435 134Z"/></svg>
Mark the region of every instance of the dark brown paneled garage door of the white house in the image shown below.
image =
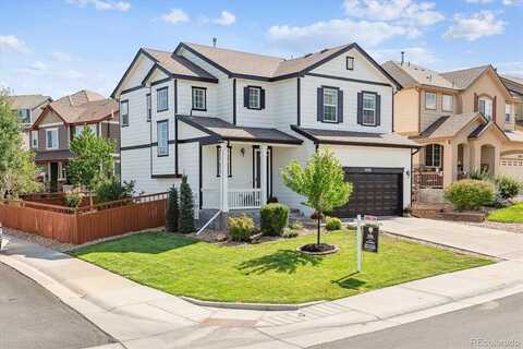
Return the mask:
<svg viewBox="0 0 523 349"><path fill-rule="evenodd" d="M332 216L398 216L403 207L402 168L345 168L345 181L352 182L349 204L337 208Z"/></svg>

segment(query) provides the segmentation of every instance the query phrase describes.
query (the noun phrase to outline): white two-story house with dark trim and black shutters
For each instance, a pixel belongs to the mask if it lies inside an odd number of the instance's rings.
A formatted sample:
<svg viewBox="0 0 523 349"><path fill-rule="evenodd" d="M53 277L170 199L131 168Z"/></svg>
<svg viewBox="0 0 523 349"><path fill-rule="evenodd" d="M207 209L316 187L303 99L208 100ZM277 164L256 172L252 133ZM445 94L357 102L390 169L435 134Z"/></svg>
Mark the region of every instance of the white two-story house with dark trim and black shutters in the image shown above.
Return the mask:
<svg viewBox="0 0 523 349"><path fill-rule="evenodd" d="M295 59L186 43L141 49L112 94L122 180L163 192L186 174L204 210L275 197L309 214L280 171L330 148L354 184L333 215L399 215L411 203L417 146L393 133L398 88L356 44Z"/></svg>

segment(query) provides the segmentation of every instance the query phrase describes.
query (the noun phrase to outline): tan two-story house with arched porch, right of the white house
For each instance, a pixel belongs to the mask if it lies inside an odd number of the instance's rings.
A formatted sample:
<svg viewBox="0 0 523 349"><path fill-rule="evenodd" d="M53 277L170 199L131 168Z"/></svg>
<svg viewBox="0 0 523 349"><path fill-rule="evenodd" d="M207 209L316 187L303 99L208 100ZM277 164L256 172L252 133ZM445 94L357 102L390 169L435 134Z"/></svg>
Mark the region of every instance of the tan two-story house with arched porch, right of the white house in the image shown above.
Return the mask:
<svg viewBox="0 0 523 349"><path fill-rule="evenodd" d="M472 171L523 180L504 155L523 154L514 97L491 65L452 72L388 61L382 64L403 88L394 95L394 131L423 147L414 159L415 183L443 189ZM442 191L430 200L440 200Z"/></svg>

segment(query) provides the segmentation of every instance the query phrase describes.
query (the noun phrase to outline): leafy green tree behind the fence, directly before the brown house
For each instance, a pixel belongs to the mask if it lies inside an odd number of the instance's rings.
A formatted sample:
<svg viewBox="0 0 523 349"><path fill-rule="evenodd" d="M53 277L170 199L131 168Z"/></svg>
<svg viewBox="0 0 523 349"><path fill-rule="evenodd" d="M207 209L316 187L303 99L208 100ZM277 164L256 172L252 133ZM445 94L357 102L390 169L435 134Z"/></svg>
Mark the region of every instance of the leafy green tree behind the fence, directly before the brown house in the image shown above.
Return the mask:
<svg viewBox="0 0 523 349"><path fill-rule="evenodd" d="M89 128L71 141L75 155L68 165L68 179L72 184L85 185L93 191L98 182L112 176L114 143L98 137Z"/></svg>

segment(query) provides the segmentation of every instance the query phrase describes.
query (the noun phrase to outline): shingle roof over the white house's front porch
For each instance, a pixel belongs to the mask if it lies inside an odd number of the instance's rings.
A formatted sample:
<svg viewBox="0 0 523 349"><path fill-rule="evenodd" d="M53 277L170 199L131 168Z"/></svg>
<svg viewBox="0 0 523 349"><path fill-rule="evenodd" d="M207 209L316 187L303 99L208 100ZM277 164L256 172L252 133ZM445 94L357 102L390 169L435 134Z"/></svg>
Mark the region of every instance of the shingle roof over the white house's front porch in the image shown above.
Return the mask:
<svg viewBox="0 0 523 349"><path fill-rule="evenodd" d="M219 118L177 116L177 118L210 136L224 141L252 141L267 143L302 144L302 140L296 139L277 129L263 128L242 128L236 127Z"/></svg>

